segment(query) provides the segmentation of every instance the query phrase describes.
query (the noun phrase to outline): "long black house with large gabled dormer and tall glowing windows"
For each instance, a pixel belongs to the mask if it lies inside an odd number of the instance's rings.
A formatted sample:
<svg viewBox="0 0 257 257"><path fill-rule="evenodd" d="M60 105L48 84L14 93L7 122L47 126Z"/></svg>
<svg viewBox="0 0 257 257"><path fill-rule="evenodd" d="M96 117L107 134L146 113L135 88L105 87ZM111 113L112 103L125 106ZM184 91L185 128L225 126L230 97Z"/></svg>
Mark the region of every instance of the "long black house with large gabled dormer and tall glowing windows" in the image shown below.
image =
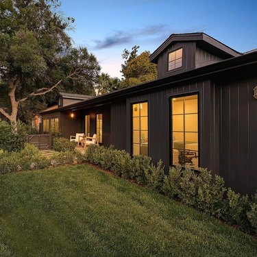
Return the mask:
<svg viewBox="0 0 257 257"><path fill-rule="evenodd" d="M257 51L238 53L204 33L172 34L150 56L158 79L56 110L60 130L166 167L208 168L241 193L257 188Z"/></svg>

